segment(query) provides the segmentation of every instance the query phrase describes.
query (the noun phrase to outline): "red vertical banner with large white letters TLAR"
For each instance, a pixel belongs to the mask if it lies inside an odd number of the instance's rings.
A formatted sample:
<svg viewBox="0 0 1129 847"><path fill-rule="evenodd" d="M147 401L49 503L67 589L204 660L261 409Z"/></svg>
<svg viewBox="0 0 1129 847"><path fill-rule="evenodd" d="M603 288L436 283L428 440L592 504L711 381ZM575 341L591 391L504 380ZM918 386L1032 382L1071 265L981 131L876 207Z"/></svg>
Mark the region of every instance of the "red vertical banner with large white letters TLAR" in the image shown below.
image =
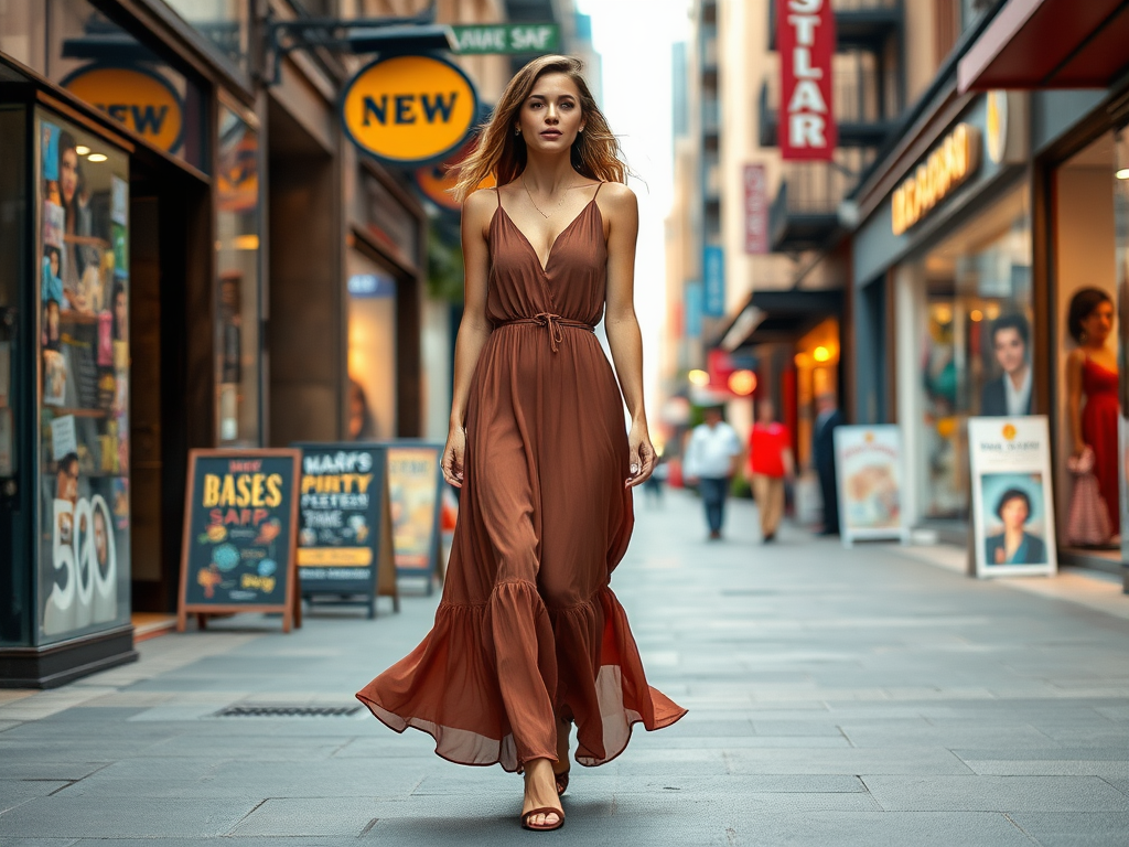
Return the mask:
<svg viewBox="0 0 1129 847"><path fill-rule="evenodd" d="M830 160L839 143L832 108L835 18L831 0L773 0L780 51L780 157Z"/></svg>

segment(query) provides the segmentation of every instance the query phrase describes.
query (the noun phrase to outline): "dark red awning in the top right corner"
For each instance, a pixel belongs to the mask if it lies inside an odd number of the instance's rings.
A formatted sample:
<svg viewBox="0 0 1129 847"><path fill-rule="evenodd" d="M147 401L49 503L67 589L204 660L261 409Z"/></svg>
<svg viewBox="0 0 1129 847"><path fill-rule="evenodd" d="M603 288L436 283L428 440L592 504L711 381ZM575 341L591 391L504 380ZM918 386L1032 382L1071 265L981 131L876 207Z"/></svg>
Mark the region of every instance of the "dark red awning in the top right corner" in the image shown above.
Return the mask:
<svg viewBox="0 0 1129 847"><path fill-rule="evenodd" d="M1129 68L1129 0L1008 0L957 66L964 91L1106 88Z"/></svg>

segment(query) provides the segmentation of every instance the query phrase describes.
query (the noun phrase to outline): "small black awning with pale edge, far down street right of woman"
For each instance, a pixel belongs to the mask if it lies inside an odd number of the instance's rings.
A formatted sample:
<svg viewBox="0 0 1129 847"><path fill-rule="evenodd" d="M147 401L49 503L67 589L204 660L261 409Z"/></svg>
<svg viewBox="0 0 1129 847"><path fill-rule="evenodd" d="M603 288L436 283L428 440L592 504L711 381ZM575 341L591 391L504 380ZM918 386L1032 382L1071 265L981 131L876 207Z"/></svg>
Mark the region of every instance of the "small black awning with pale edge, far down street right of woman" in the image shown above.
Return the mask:
<svg viewBox="0 0 1129 847"><path fill-rule="evenodd" d="M841 315L842 290L753 291L714 347L727 352L773 341L795 341L821 321Z"/></svg>

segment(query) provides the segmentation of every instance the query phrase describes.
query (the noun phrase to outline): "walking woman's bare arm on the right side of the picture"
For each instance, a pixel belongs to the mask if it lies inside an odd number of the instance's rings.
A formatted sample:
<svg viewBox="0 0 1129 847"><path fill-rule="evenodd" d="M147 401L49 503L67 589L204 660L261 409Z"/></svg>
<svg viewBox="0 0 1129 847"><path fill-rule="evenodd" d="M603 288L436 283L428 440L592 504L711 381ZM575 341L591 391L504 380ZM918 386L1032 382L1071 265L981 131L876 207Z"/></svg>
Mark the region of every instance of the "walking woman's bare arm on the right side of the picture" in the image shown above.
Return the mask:
<svg viewBox="0 0 1129 847"><path fill-rule="evenodd" d="M631 416L628 442L631 464L638 472L627 486L638 486L655 470L655 447L647 431L647 411L642 398L642 333L634 313L634 252L639 235L639 203L627 185L609 183L599 195L601 211L607 221L607 308L604 326L612 349L620 391Z"/></svg>

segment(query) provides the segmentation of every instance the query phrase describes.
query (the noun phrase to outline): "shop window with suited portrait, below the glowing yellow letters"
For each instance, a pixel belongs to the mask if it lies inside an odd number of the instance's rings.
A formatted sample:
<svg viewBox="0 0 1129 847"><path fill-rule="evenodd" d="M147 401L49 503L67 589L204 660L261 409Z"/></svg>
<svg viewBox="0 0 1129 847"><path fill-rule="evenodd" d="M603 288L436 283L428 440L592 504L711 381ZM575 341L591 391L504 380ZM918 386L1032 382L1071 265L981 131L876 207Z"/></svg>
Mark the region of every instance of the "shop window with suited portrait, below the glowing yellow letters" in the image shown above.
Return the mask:
<svg viewBox="0 0 1129 847"><path fill-rule="evenodd" d="M1031 256L1022 185L899 269L919 517L968 519L969 417L1035 408Z"/></svg>

